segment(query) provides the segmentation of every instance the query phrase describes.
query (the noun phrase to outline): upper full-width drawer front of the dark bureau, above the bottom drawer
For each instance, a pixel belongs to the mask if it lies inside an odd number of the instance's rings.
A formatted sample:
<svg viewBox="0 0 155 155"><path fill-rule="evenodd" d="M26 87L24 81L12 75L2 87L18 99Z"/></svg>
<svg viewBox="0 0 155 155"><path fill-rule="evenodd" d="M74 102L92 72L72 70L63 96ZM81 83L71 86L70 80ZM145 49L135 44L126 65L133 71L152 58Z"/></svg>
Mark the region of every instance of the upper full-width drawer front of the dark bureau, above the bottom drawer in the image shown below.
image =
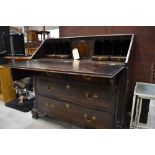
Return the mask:
<svg viewBox="0 0 155 155"><path fill-rule="evenodd" d="M49 78L36 78L36 92L61 100L114 111L115 91L102 84L87 84Z"/></svg>

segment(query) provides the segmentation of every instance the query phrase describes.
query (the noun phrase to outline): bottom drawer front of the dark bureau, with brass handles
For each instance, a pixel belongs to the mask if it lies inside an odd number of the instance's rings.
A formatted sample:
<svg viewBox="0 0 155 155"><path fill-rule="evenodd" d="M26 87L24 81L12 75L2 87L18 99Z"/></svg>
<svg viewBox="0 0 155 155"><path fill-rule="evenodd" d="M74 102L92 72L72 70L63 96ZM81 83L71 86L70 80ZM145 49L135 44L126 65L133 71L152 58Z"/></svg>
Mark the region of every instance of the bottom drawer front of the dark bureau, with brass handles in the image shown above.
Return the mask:
<svg viewBox="0 0 155 155"><path fill-rule="evenodd" d="M88 128L112 128L113 114L37 95L37 109L49 116Z"/></svg>

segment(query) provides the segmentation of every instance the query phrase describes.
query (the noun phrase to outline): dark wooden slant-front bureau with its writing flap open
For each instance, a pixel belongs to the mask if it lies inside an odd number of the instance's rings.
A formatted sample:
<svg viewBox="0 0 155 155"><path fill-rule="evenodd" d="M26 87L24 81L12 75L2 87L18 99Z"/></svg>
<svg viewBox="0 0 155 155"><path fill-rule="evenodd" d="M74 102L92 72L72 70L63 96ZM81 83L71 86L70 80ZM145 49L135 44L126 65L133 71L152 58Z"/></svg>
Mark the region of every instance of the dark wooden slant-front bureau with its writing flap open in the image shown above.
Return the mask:
<svg viewBox="0 0 155 155"><path fill-rule="evenodd" d="M10 64L14 77L34 77L33 117L48 115L83 128L124 128L133 38L47 39L32 60ZM80 60L72 59L73 48L79 50Z"/></svg>

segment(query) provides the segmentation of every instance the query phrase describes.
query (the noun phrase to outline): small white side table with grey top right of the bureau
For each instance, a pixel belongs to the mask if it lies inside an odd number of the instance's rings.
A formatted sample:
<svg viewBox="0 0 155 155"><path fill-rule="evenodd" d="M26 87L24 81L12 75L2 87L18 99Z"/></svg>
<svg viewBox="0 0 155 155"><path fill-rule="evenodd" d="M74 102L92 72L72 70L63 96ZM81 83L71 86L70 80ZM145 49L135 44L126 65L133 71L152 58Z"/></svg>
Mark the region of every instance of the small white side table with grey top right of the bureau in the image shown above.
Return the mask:
<svg viewBox="0 0 155 155"><path fill-rule="evenodd" d="M130 128L145 128L140 126L139 123L143 99L155 99L155 84L142 82L136 83L133 96Z"/></svg>

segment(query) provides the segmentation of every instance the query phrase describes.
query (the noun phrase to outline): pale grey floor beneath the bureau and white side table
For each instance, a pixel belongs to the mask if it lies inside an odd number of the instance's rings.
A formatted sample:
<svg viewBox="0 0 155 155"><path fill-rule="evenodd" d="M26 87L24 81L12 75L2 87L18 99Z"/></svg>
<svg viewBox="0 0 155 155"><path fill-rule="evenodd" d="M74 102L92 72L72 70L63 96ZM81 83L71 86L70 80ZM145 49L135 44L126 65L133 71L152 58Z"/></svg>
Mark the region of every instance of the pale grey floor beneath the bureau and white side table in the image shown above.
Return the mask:
<svg viewBox="0 0 155 155"><path fill-rule="evenodd" d="M147 124L144 127L155 128L155 100L150 102ZM0 101L1 129L78 129L79 127L52 118L33 119L31 112L21 112Z"/></svg>

